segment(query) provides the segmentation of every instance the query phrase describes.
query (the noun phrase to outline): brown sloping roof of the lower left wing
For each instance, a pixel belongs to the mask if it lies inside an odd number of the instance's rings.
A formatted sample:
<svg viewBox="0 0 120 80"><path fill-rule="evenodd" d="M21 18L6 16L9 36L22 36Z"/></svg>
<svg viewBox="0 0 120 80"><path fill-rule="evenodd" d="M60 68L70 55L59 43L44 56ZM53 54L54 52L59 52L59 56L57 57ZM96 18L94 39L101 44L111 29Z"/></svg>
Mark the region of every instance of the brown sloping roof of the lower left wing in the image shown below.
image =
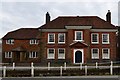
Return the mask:
<svg viewBox="0 0 120 80"><path fill-rule="evenodd" d="M20 28L15 31L8 32L2 39L31 39L37 38L39 30L37 28Z"/></svg>

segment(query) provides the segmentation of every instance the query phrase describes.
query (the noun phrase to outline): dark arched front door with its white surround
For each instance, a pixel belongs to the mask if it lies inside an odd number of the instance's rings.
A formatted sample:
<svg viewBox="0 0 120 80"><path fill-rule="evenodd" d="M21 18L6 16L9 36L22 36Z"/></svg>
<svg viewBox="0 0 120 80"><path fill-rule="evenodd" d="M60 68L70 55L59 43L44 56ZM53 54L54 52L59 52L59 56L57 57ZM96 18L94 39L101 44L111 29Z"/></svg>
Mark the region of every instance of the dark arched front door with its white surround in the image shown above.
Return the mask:
<svg viewBox="0 0 120 80"><path fill-rule="evenodd" d="M74 63L79 64L84 62L83 49L74 49Z"/></svg>

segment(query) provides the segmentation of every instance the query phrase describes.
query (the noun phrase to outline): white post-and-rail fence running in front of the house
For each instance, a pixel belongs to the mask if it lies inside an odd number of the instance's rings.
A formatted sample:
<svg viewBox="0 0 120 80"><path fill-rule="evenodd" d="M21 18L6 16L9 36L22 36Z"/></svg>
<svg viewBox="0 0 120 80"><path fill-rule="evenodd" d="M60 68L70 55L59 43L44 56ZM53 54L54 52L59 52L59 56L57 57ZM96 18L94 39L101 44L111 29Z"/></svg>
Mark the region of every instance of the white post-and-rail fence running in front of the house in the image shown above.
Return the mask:
<svg viewBox="0 0 120 80"><path fill-rule="evenodd" d="M66 70L74 70L74 69L79 69L79 70L84 70L84 75L88 74L89 69L109 69L109 74L113 75L113 69L114 68L120 68L120 66L114 66L113 62L110 62L110 65L107 66L101 66L101 63L95 63L95 66L88 66L88 65L83 65L82 63L79 66L67 66L66 62L64 63L64 66L60 67L52 67L50 62L48 63L47 67L40 67L40 66L34 66L34 63L31 63L31 66L29 67L19 67L15 66L15 63L10 67L3 66L0 69L3 72L3 77L6 77L7 70L30 70L31 77L34 77L35 70L47 70L47 71L52 71L52 70L59 70L59 76L63 75L63 72ZM99 66L100 65L100 66Z"/></svg>

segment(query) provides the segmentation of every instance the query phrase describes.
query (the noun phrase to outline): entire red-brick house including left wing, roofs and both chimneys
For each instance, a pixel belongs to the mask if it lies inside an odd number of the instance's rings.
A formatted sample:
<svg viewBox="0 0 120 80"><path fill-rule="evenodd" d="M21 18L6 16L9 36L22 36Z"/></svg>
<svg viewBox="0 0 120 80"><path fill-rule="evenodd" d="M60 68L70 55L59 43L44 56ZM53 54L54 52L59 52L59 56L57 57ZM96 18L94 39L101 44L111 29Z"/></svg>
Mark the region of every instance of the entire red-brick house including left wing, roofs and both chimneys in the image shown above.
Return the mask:
<svg viewBox="0 0 120 80"><path fill-rule="evenodd" d="M46 24L41 27L18 29L2 38L3 62L78 64L115 61L117 31L111 24L110 11L106 21L98 16L60 16L50 21L47 13Z"/></svg>

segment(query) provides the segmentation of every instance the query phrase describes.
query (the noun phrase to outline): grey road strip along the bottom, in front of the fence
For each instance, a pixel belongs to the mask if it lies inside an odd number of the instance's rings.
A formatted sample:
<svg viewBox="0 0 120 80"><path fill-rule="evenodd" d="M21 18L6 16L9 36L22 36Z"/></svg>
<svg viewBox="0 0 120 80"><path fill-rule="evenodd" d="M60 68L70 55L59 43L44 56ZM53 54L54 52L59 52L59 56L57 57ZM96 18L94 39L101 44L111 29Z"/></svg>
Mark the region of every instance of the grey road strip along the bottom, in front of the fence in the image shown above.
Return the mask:
<svg viewBox="0 0 120 80"><path fill-rule="evenodd" d="M120 76L66 76L66 77L34 77L3 78L2 80L120 80Z"/></svg>

